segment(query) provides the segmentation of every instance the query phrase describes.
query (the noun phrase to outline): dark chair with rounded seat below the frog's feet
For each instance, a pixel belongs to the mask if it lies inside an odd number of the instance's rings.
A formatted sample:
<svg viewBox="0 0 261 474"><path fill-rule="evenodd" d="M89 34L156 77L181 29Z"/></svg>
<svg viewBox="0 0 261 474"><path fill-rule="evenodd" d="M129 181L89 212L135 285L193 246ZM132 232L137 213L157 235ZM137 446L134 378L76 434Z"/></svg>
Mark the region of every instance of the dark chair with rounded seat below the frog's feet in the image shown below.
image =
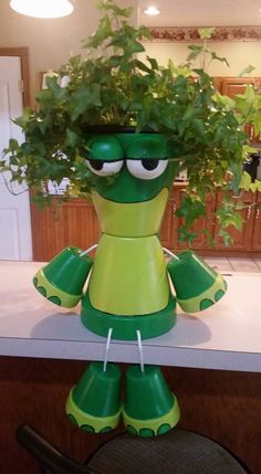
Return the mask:
<svg viewBox="0 0 261 474"><path fill-rule="evenodd" d="M100 446L86 465L28 425L18 428L17 440L38 460L41 474L250 474L220 444L177 428L157 438L119 434Z"/></svg>

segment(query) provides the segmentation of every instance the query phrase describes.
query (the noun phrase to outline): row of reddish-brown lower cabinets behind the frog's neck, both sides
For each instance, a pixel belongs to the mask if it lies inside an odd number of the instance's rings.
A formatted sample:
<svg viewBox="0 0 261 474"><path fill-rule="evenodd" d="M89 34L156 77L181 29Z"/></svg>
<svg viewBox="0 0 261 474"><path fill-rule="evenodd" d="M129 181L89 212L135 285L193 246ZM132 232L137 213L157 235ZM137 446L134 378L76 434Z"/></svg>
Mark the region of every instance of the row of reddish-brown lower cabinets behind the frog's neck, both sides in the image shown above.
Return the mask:
<svg viewBox="0 0 261 474"><path fill-rule="evenodd" d="M163 219L159 238L163 246L173 251L187 249L186 243L178 240L178 228L181 218L175 215L186 185L178 183L174 187ZM241 211L243 225L241 231L230 229L233 243L226 246L218 236L218 224L215 222L215 210L222 199L222 193L217 192L215 198L207 198L207 214L197 220L192 231L197 234L191 247L199 252L212 254L243 254L261 252L261 193L246 192L244 207ZM32 204L32 235L33 260L50 261L66 245L75 245L87 249L97 243L101 230L94 207L86 200L72 199L58 208L46 208L39 211ZM207 230L207 232L206 232ZM209 236L213 238L215 246L210 246Z"/></svg>

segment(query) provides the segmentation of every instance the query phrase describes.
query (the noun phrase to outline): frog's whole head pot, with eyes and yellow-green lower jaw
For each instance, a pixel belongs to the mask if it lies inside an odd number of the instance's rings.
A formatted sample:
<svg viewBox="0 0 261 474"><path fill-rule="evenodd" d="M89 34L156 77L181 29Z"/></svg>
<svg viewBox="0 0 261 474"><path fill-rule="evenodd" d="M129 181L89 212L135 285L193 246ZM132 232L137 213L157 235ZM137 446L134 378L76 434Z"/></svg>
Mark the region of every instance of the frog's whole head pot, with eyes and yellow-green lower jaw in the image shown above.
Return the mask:
<svg viewBox="0 0 261 474"><path fill-rule="evenodd" d="M123 236L158 232L178 168L171 156L169 141L159 134L124 133L90 139L85 158L104 232Z"/></svg>

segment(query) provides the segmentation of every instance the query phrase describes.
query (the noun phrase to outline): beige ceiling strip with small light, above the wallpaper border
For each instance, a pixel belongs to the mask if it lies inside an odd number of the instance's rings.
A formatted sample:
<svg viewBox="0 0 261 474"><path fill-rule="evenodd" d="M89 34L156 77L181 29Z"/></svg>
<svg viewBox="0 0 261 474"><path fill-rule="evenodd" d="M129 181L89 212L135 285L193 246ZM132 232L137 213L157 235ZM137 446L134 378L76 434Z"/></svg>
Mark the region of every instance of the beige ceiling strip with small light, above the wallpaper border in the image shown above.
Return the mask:
<svg viewBox="0 0 261 474"><path fill-rule="evenodd" d="M261 0L137 0L138 23L147 27L261 25ZM143 11L160 10L157 17Z"/></svg>

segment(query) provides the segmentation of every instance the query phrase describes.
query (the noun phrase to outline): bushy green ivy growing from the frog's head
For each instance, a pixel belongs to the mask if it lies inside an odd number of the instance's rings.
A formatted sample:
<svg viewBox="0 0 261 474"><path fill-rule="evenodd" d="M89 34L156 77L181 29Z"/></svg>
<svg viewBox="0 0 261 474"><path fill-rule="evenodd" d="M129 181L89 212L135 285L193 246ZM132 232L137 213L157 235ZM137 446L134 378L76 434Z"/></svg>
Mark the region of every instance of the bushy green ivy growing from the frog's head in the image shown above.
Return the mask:
<svg viewBox="0 0 261 474"><path fill-rule="evenodd" d="M64 198L86 196L92 182L84 156L92 127L161 133L174 144L173 159L187 169L188 188L176 212L184 218L180 239L190 242L194 221L206 214L206 196L218 188L239 190L242 162L251 150L243 127L251 123L259 134L261 96L252 86L234 99L215 88L208 65L227 60L208 49L211 29L199 31L202 44L188 46L182 64L169 60L160 66L155 57L140 60L150 33L129 23L130 9L113 0L98 8L98 28L84 41L83 54L48 77L46 88L36 94L36 110L25 108L14 120L25 140L10 140L0 171L11 172L14 182L25 181L40 206L50 203L43 187L48 180L70 180ZM241 225L240 209L239 201L228 204L226 198L217 210L227 241L226 228Z"/></svg>

